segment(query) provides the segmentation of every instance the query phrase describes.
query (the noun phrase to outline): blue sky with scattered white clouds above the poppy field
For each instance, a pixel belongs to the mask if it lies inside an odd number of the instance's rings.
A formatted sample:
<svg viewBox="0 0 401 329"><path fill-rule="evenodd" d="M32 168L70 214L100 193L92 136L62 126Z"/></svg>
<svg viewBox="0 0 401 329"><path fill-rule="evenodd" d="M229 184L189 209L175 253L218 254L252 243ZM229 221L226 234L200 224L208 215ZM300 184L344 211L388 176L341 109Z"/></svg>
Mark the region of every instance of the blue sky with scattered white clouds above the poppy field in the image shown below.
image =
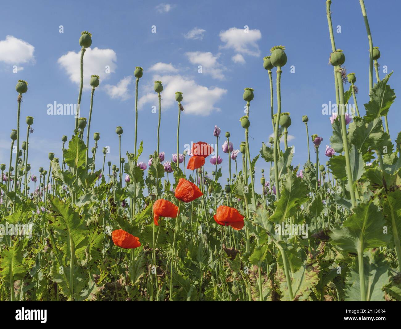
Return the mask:
<svg viewBox="0 0 401 329"><path fill-rule="evenodd" d="M0 162L8 166L10 129L16 127L18 79L28 81L21 110L21 140L26 138L25 117L34 117L30 135L29 161L32 173L39 166L49 167L47 153L53 151L61 158L61 136L71 136L74 118L48 115L47 104L76 103L79 72L78 43L83 30L93 34L91 49L85 53L84 75L101 76L95 91L91 122L93 132L101 134L101 147L110 146L106 161L118 161L118 137L115 127L122 126L122 149L134 149L134 79L136 66L144 67L140 79L138 139L144 140L141 161L156 148L157 106L153 81L162 80L162 125L160 149L166 157L176 153L177 107L175 91L184 92L181 116L180 152L184 145L197 141L215 143L213 129L218 125L231 132L235 149L244 139L239 118L244 115L243 88L255 89L250 111L251 156L257 155L262 141L272 133L269 120L269 85L262 58L274 45L285 45L287 65L282 74L282 110L291 113L292 126L289 142L295 146L293 164L307 159L306 132L302 115L309 116L310 135L323 137L321 149L329 144L331 126L329 115L322 115L322 104L335 102L333 69L328 65L331 51L326 20L325 1L120 1L118 5L107 1L3 3L0 13L0 98L1 122ZM380 47L381 69L395 74L389 81L396 93L400 80L397 1L386 1L380 11L377 1L366 0L373 43ZM357 95L361 114L368 98L369 44L358 1L334 0L332 3L336 47L344 51L347 72L356 72L359 88ZM59 27L63 25L63 33ZM245 34L244 27L249 27ZM156 33L152 33L156 26ZM13 72L16 65L18 72ZM105 65L110 73L105 73ZM198 65L203 72L198 73ZM295 73L290 73L291 65ZM384 76L383 72L380 73ZM275 71L273 72L275 77ZM348 84L345 88L348 88ZM82 116L89 114L90 89L84 88ZM276 110L276 97L274 95ZM392 139L398 132L401 115L395 100L389 114ZM219 146L221 147L221 146ZM314 152L312 151L312 158ZM221 148L219 154L221 155ZM321 161L324 155L321 156ZM102 156L98 156L100 168ZM13 162L14 163L14 162ZM227 172L227 155L223 157L223 170ZM209 176L213 166L207 162ZM239 167L241 167L239 163ZM263 160L260 169L269 168ZM268 171L268 170L267 170ZM223 178L226 178L224 176ZM225 182L222 181L222 182Z"/></svg>

